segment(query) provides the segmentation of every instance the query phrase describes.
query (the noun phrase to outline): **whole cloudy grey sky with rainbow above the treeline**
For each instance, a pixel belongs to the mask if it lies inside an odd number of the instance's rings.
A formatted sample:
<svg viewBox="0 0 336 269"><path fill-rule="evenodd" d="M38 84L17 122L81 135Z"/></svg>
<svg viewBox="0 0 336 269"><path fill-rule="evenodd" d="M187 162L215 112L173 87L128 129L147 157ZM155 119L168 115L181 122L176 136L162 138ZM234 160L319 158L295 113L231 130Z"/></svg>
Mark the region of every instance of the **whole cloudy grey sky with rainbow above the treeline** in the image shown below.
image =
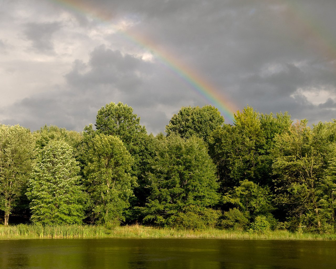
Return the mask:
<svg viewBox="0 0 336 269"><path fill-rule="evenodd" d="M110 102L153 133L206 104L225 123L247 104L330 121L335 11L335 0L0 0L0 122L81 131Z"/></svg>

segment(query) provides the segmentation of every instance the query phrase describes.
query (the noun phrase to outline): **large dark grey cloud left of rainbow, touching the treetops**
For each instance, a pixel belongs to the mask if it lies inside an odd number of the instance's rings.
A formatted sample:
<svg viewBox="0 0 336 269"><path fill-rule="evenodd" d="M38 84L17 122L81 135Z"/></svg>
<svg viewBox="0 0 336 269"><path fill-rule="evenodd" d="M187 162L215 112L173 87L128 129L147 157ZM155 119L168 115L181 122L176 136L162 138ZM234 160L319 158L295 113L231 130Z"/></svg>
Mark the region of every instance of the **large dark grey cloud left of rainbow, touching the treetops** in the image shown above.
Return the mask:
<svg viewBox="0 0 336 269"><path fill-rule="evenodd" d="M183 102L174 76L160 77L160 72L155 73L157 69L153 63L99 46L90 53L87 63L75 61L65 76L69 89L54 89L16 102L6 108L11 117L1 122L19 123L32 130L44 124L82 130L85 125L94 124L102 106L121 101L133 107L149 132L163 131L169 117L159 105L182 106ZM182 96L188 94L186 90Z"/></svg>

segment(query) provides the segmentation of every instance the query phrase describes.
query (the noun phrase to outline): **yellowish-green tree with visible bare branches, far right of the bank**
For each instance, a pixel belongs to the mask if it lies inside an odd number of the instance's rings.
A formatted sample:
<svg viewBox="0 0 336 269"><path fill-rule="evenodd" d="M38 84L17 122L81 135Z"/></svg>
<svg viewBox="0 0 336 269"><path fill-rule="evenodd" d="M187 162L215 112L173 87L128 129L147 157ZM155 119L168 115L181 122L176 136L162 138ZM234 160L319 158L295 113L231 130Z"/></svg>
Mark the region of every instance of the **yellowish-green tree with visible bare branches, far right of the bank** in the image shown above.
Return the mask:
<svg viewBox="0 0 336 269"><path fill-rule="evenodd" d="M330 224L327 215L332 219L335 143L328 137L322 123L311 129L301 120L275 139L276 202L292 229L322 232Z"/></svg>

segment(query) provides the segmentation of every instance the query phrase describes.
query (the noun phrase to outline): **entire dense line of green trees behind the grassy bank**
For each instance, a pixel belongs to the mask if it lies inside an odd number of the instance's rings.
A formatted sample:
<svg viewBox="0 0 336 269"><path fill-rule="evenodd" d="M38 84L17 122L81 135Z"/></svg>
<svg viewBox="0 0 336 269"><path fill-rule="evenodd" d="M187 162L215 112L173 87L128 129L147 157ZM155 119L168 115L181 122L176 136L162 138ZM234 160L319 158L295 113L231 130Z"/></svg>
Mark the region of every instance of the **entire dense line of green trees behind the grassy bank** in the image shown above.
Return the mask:
<svg viewBox="0 0 336 269"><path fill-rule="evenodd" d="M307 126L247 106L224 124L182 107L166 136L107 104L95 129L0 125L0 210L36 224L335 233L336 121Z"/></svg>

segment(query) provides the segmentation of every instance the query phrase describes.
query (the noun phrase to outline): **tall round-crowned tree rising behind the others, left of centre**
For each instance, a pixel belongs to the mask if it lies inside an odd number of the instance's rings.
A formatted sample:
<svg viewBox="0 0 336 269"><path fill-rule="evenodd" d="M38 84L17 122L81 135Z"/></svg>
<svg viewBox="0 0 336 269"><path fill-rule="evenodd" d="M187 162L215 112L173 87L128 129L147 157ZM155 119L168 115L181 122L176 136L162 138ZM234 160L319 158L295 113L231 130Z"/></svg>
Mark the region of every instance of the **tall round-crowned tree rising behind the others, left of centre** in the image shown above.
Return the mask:
<svg viewBox="0 0 336 269"><path fill-rule="evenodd" d="M121 102L106 104L99 109L95 126L97 133L120 138L134 159L130 173L137 177L138 184L134 186L135 196L130 197L131 206L126 217L128 223L137 222L140 212L136 208L144 205L147 196L144 177L155 155L154 136L148 135L145 127L140 125L140 117L133 113L133 108ZM90 130L89 126L86 127L85 137L90 135L92 135L92 128Z"/></svg>

